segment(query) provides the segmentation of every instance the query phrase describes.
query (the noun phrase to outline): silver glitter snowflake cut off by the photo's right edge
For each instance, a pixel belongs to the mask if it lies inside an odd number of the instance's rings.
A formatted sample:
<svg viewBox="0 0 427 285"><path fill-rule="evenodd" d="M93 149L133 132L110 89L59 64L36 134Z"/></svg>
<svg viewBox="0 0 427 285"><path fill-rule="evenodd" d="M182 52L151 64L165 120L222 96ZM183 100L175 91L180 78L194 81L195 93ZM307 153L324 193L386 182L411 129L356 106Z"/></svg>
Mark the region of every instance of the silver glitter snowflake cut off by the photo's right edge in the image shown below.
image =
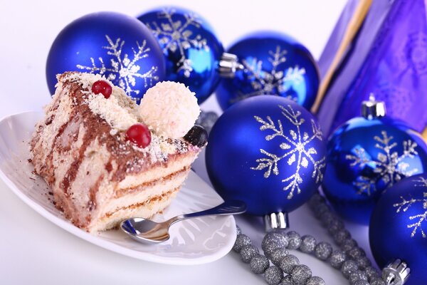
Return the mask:
<svg viewBox="0 0 427 285"><path fill-rule="evenodd" d="M418 180L413 180L413 181L421 183L421 184L415 185L416 187L427 187L427 180L423 177L419 177ZM413 199L413 198L405 199L404 197L401 196L401 202L393 204L393 207L397 207L396 213L399 213L401 211L406 212L408 208L415 203L423 203L423 209L426 209L426 211L423 212L422 214L416 214L416 215L410 216L409 219L411 221L414 219L418 219L418 221L413 224L408 224L407 227L408 229L413 229L411 232L411 237L415 237L416 232L419 229L421 232L421 236L423 238L427 238L426 232L424 232L423 229L421 228L421 224L427 220L427 192L423 192L423 199Z"/></svg>

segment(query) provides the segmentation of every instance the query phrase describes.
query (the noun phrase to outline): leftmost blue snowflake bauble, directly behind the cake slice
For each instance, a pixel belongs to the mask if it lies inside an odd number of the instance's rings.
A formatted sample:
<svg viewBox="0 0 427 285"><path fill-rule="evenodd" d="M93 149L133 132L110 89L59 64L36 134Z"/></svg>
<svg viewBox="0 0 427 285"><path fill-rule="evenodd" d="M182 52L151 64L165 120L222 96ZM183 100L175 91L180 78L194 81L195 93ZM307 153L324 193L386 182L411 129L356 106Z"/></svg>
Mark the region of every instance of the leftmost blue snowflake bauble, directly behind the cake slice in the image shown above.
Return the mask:
<svg viewBox="0 0 427 285"><path fill-rule="evenodd" d="M60 31L46 63L51 94L56 75L65 71L101 74L137 103L165 76L162 50L149 29L114 12L88 14Z"/></svg>

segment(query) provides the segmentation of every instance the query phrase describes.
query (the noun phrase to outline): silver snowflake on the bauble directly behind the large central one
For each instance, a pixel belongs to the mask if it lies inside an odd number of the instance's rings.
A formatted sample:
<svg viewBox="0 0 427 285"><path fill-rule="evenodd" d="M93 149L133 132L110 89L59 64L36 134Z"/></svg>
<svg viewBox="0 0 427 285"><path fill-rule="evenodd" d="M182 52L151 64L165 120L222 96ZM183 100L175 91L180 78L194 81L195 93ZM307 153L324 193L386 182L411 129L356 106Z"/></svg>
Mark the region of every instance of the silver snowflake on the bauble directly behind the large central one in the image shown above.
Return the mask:
<svg viewBox="0 0 427 285"><path fill-rule="evenodd" d="M263 70L263 61L253 58L252 61L242 60L244 71L248 74L248 80L251 81L253 91L250 93L241 93L237 98L233 98L231 103L238 100L243 100L256 95L271 95L276 93L284 93L293 85L298 85L304 81L305 68L298 66L290 67L286 71L280 71L279 66L285 63L285 54L288 51L283 50L280 46L276 46L275 51L268 51L270 57L268 61L273 66L273 69L268 72ZM288 96L288 99L296 101L297 98Z"/></svg>

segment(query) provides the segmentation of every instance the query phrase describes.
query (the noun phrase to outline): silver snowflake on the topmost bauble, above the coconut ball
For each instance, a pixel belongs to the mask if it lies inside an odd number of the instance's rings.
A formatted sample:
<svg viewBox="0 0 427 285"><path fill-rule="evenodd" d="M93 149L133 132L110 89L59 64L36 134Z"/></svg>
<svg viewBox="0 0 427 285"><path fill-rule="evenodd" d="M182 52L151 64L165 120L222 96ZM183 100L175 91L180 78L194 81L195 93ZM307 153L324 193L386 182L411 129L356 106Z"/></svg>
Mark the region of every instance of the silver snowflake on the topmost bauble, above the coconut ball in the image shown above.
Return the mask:
<svg viewBox="0 0 427 285"><path fill-rule="evenodd" d="M209 51L206 38L200 34L194 34L189 27L194 26L200 28L202 25L201 19L196 14L184 14L185 22L179 20L174 21L175 9L164 9L157 14L157 19L166 19L163 23L157 22L146 23L150 31L159 38L159 43L164 46L163 52L170 51L175 53L179 52L181 58L176 63L178 72L184 71L186 78L190 77L193 72L193 63L191 59L186 58L185 51L189 48L196 48L199 51Z"/></svg>

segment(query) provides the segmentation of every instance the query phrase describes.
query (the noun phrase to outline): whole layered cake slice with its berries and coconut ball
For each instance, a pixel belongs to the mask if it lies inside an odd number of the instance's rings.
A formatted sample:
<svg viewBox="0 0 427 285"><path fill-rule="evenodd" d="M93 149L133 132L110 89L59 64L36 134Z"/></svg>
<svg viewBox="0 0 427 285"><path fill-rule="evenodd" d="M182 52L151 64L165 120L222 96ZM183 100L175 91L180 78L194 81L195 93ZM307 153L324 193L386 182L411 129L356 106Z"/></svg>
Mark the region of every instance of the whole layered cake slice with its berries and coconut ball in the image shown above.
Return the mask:
<svg viewBox="0 0 427 285"><path fill-rule="evenodd" d="M161 212L206 145L194 93L180 83L157 83L138 106L101 76L63 73L45 112L31 161L56 207L88 232Z"/></svg>

